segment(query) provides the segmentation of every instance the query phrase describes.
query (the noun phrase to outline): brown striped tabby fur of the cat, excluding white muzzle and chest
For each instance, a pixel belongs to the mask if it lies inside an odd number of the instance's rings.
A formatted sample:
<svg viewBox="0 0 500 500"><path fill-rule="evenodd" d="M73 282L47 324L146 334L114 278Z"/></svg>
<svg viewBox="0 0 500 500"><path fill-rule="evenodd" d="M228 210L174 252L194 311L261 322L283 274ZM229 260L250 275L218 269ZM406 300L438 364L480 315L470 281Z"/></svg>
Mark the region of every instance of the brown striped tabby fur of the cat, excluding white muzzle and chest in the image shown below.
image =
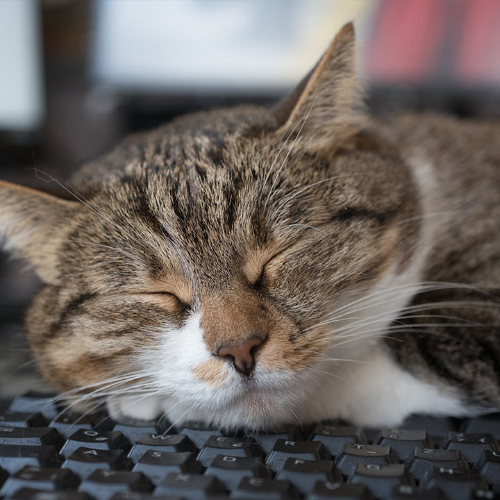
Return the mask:
<svg viewBox="0 0 500 500"><path fill-rule="evenodd" d="M353 51L348 25L276 108L128 138L83 167L71 201L0 183L7 247L45 283L26 328L58 391L139 369L156 328L192 310L209 351L257 335L256 363L299 372L331 331L311 326L425 251L422 280L460 286L419 294L415 305L444 306L408 314L385 342L419 377L499 406L500 124L369 119ZM415 181L422 165L429 192ZM426 249L424 224L436 229ZM217 387L222 367L214 357L194 375Z"/></svg>

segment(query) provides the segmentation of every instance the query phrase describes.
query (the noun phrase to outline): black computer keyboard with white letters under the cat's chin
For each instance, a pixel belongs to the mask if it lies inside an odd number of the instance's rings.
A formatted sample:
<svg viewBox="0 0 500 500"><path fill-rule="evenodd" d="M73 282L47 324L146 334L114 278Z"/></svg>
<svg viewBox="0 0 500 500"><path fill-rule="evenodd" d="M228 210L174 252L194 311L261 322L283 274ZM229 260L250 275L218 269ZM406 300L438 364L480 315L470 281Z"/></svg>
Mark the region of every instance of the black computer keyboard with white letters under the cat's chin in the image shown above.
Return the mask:
<svg viewBox="0 0 500 500"><path fill-rule="evenodd" d="M61 412L49 394L0 406L0 497L36 500L500 498L500 414L319 422L226 433Z"/></svg>

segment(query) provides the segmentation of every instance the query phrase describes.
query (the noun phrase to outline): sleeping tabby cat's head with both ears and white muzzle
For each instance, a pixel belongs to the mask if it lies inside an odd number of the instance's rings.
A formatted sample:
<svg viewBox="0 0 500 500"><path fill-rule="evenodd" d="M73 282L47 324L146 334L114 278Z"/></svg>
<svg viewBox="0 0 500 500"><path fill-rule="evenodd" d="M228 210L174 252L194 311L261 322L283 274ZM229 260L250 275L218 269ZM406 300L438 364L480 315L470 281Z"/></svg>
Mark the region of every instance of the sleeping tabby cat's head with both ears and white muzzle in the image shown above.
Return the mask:
<svg viewBox="0 0 500 500"><path fill-rule="evenodd" d="M272 110L130 138L72 199L0 183L6 247L45 283L26 324L47 380L76 408L174 423L323 417L322 385L401 301L363 297L411 276L419 232L415 183L361 101L348 25Z"/></svg>

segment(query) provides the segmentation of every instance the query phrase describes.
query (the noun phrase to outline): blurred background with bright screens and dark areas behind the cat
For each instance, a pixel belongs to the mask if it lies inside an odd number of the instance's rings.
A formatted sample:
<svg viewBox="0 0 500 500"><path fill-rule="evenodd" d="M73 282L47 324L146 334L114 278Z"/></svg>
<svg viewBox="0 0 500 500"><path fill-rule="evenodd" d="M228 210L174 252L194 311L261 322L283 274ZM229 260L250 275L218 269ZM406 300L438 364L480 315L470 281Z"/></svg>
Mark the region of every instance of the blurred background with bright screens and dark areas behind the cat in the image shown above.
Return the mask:
<svg viewBox="0 0 500 500"><path fill-rule="evenodd" d="M47 187L35 169L66 179L178 114L272 103L351 20L374 113L500 116L500 1L1 0L0 178ZM43 387L25 267L0 252L0 395Z"/></svg>

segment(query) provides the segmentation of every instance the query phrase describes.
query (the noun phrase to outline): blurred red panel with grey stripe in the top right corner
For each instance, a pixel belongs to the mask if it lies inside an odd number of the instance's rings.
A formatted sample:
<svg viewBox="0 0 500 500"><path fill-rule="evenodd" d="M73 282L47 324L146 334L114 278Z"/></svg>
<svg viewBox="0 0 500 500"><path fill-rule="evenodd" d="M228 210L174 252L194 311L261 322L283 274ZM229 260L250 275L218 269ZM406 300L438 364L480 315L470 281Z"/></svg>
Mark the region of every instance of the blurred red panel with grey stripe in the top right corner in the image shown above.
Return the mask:
<svg viewBox="0 0 500 500"><path fill-rule="evenodd" d="M500 1L381 0L367 42L372 83L500 85Z"/></svg>

